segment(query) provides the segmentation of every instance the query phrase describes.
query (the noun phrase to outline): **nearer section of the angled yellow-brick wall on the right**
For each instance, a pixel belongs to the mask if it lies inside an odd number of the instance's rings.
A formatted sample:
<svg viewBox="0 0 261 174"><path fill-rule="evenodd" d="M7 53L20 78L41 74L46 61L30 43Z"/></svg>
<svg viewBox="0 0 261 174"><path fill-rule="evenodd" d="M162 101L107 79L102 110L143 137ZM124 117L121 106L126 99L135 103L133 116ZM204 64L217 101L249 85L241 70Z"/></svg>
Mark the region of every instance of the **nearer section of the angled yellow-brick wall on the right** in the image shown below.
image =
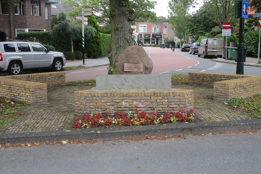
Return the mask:
<svg viewBox="0 0 261 174"><path fill-rule="evenodd" d="M228 102L232 98L251 97L261 93L261 76L214 82L214 100Z"/></svg>

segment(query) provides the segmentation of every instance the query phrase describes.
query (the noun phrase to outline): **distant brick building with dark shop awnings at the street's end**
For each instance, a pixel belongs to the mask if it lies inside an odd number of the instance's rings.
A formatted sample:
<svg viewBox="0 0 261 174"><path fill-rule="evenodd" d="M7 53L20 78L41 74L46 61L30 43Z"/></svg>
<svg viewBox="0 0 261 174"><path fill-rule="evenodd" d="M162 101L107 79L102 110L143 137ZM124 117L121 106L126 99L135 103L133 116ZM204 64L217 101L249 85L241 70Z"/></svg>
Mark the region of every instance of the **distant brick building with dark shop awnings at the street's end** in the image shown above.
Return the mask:
<svg viewBox="0 0 261 174"><path fill-rule="evenodd" d="M140 35L140 38L138 38L139 44L143 44L144 46L163 44L164 39L167 37L169 39L173 38L175 43L180 41L180 39L175 36L170 22L137 22L131 27L134 29L134 37L137 38L137 36Z"/></svg>

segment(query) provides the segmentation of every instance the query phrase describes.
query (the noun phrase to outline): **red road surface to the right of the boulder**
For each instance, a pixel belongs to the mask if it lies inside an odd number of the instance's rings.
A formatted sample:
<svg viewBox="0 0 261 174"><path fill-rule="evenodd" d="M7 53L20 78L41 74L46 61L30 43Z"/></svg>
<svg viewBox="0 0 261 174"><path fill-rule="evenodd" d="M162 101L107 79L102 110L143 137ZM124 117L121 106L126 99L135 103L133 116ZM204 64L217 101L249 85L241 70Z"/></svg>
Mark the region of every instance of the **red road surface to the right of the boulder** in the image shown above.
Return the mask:
<svg viewBox="0 0 261 174"><path fill-rule="evenodd" d="M197 65L198 62L183 56L171 49L145 49L150 50L150 58L153 62L153 70L151 74L159 74L165 72L186 69Z"/></svg>

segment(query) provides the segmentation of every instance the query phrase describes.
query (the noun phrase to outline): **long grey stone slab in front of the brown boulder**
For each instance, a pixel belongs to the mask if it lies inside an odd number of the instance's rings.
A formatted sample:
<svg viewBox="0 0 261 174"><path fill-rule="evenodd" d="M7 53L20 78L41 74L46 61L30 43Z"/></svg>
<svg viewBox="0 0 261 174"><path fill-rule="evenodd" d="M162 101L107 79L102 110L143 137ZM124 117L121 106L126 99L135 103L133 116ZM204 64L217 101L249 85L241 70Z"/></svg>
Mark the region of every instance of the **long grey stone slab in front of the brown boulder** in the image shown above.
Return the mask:
<svg viewBox="0 0 261 174"><path fill-rule="evenodd" d="M171 89L171 74L97 75L96 89Z"/></svg>

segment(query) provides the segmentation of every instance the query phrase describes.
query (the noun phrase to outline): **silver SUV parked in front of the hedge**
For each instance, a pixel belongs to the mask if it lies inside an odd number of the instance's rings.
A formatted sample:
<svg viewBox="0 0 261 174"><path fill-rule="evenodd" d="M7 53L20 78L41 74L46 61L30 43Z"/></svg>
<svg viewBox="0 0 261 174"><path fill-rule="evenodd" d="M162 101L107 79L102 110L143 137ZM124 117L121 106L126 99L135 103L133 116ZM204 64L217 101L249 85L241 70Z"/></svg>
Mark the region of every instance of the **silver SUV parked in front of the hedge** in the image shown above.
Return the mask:
<svg viewBox="0 0 261 174"><path fill-rule="evenodd" d="M39 43L0 41L0 71L7 71L9 75L39 68L61 71L65 62L63 53L50 51Z"/></svg>

